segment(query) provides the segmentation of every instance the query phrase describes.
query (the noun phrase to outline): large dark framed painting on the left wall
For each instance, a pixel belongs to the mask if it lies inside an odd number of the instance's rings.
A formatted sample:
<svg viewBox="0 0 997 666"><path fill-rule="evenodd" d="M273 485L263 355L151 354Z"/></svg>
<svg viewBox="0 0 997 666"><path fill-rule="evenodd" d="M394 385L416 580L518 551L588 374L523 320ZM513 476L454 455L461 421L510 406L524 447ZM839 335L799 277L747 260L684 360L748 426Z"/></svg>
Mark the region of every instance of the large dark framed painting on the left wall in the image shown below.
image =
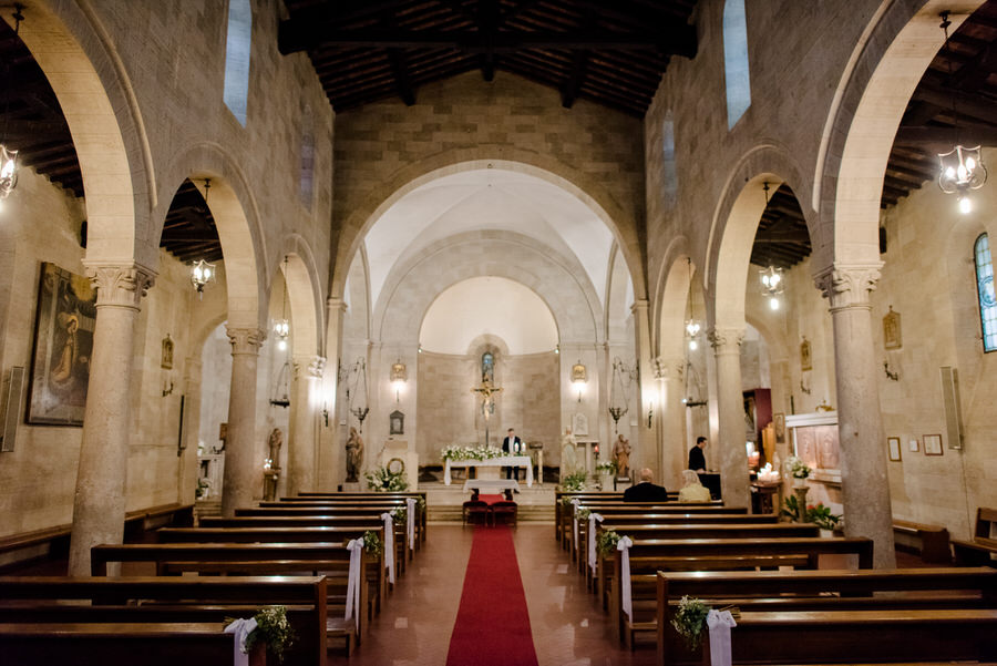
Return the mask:
<svg viewBox="0 0 997 666"><path fill-rule="evenodd" d="M34 319L28 423L82 426L96 322L96 289L42 263Z"/></svg>

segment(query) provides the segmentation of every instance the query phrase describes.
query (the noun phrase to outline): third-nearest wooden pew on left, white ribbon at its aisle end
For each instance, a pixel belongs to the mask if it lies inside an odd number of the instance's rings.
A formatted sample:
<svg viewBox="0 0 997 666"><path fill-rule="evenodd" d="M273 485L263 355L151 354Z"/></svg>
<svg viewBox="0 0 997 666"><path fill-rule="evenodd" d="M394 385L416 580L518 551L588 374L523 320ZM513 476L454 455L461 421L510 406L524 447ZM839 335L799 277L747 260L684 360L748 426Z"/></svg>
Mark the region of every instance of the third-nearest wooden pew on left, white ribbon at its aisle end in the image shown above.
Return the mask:
<svg viewBox="0 0 997 666"><path fill-rule="evenodd" d="M345 604L350 552L345 543L134 543L102 544L90 550L91 574L106 576L110 562L150 563L158 576L201 575L319 575L326 574L328 606ZM367 581L370 556L360 557L360 581ZM367 584L360 585L357 643L367 629L370 607Z"/></svg>

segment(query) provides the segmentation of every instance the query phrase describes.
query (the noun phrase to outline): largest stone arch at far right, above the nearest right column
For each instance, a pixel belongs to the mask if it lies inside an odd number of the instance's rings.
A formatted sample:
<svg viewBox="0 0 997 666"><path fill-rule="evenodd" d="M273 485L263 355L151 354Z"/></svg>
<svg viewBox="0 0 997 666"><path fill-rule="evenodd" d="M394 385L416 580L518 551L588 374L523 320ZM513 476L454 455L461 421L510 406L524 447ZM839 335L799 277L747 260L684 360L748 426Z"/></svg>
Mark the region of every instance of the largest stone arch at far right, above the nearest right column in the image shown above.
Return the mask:
<svg viewBox="0 0 997 666"><path fill-rule="evenodd" d="M911 95L942 48L938 14L950 31L984 0L883 2L852 57L824 124L812 204L820 212L814 267L880 266L880 201L893 139ZM798 193L801 201L803 193Z"/></svg>

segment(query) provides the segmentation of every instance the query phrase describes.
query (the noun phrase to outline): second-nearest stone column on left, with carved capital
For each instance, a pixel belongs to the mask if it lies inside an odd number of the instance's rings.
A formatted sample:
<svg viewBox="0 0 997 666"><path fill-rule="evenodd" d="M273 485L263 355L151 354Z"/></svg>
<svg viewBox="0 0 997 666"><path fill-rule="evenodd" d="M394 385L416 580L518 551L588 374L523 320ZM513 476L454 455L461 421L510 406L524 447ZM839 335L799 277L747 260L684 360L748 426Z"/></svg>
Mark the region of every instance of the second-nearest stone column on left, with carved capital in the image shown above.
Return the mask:
<svg viewBox="0 0 997 666"><path fill-rule="evenodd" d="M232 341L232 390L228 397L228 437L222 515L232 518L237 506L248 506L255 491L263 491L263 459L255 455L256 363L266 331L226 327Z"/></svg>

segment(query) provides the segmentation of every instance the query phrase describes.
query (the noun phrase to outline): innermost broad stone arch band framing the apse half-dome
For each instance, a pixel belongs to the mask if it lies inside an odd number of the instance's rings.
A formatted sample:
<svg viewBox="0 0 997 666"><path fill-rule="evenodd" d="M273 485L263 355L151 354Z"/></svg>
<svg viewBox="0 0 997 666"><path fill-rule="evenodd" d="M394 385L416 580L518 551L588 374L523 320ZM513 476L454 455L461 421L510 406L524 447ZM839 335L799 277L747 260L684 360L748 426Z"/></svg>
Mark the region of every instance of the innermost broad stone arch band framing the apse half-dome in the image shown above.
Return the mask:
<svg viewBox="0 0 997 666"><path fill-rule="evenodd" d="M489 256L480 256L467 252L469 245L484 240L489 244ZM524 257L522 265L512 266L494 252L495 247L507 247L511 256ZM454 253L463 263L443 262L449 253ZM448 270L441 271L440 265ZM558 297L549 288L549 276L564 275L576 286L577 291L571 297ZM577 262L559 256L548 247L537 247L536 240L512 232L469 232L451 236L430 245L415 257L395 266L381 289L381 297L374 305L372 317L372 339L383 340L384 331L419 330L425 311L432 300L445 288L470 277L493 276L505 277L517 281L535 291L554 314L561 340L593 341L602 335L602 306L592 284L579 276L585 275ZM402 293L404 285L418 285L419 294ZM426 299L425 295L432 294ZM411 300L411 299L418 299ZM409 318L397 319L399 312L391 307L392 301L404 299L409 304L404 309ZM578 303L586 303L584 325L567 326L579 318Z"/></svg>

